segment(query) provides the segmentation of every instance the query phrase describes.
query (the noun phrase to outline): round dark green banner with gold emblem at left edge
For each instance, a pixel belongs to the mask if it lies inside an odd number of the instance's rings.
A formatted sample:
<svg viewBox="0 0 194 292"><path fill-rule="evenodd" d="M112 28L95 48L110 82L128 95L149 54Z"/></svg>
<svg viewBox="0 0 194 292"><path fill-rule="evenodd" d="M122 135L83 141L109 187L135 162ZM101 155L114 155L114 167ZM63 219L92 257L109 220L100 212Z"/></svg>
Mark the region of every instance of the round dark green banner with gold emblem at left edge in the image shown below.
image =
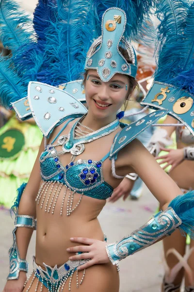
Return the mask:
<svg viewBox="0 0 194 292"><path fill-rule="evenodd" d="M21 131L9 129L0 135L0 158L13 158L22 149L25 138Z"/></svg>

